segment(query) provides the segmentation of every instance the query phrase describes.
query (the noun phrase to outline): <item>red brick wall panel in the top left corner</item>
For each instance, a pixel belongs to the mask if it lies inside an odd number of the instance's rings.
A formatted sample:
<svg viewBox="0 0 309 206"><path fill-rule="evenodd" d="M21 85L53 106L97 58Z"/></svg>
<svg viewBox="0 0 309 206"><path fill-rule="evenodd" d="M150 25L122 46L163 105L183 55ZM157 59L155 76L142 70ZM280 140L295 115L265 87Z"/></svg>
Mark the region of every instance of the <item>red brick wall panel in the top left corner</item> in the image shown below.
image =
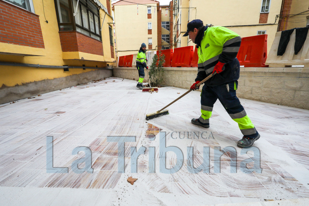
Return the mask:
<svg viewBox="0 0 309 206"><path fill-rule="evenodd" d="M44 48L39 16L0 0L0 42Z"/></svg>

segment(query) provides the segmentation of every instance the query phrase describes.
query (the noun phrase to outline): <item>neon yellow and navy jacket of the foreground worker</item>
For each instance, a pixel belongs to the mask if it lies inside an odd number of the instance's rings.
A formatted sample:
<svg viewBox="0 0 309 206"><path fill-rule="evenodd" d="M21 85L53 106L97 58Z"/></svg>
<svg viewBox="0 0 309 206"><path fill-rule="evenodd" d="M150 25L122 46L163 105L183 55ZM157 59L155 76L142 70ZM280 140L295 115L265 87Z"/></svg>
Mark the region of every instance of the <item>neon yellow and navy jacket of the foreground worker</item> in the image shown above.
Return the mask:
<svg viewBox="0 0 309 206"><path fill-rule="evenodd" d="M198 47L198 71L195 81L210 75L218 61L225 63L224 71L205 82L217 86L239 78L239 61L236 59L241 38L226 27L207 27Z"/></svg>

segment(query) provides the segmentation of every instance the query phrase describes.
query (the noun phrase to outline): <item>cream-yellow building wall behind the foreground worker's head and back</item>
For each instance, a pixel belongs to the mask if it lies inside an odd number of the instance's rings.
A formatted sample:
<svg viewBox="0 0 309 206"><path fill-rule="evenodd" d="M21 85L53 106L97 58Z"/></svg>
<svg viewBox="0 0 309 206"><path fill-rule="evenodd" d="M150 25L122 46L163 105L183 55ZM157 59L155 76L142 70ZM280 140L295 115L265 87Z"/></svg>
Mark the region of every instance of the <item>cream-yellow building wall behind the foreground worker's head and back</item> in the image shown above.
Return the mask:
<svg viewBox="0 0 309 206"><path fill-rule="evenodd" d="M214 26L233 26L233 25L256 25L259 24L260 10L262 0L250 1L238 0L238 1L211 1L211 0L181 0L181 7L191 7L180 9L183 17L189 21L193 19L201 19L205 24L213 24ZM188 2L188 6L185 3ZM280 14L281 0L272 0L269 9L267 24L273 25L261 25L261 26L246 26L246 27L227 27L232 31L238 33L241 37L255 36L258 30L266 30L268 35L267 50L269 52L270 47L275 38L277 32L278 18L276 15ZM184 13L187 11L187 13ZM189 14L184 16L184 14ZM275 21L276 20L276 21ZM174 21L176 24L176 22ZM274 24L275 23L275 24ZM187 22L182 21L182 31L186 31ZM182 34L183 35L183 34ZM195 45L188 43L188 38L181 39L181 46Z"/></svg>

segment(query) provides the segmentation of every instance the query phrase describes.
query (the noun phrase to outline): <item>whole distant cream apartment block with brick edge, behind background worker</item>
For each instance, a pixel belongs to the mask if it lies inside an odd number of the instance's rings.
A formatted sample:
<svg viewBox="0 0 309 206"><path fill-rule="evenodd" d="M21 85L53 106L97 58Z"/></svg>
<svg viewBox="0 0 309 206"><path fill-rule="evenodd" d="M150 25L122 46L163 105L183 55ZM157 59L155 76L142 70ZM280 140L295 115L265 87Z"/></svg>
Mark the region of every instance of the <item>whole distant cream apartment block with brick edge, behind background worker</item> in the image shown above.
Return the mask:
<svg viewBox="0 0 309 206"><path fill-rule="evenodd" d="M112 4L112 10L118 56L137 53L142 43L146 44L147 50L160 47L161 11L158 1L120 0Z"/></svg>

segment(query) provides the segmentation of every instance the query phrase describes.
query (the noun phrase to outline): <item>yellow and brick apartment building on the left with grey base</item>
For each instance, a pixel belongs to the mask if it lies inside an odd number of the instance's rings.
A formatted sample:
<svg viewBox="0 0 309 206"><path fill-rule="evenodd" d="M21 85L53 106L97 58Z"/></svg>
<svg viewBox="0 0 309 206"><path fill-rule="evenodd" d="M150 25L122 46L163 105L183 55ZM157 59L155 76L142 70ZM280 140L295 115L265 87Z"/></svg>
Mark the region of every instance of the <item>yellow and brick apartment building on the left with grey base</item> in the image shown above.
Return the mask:
<svg viewBox="0 0 309 206"><path fill-rule="evenodd" d="M0 0L0 103L112 76L110 0Z"/></svg>

